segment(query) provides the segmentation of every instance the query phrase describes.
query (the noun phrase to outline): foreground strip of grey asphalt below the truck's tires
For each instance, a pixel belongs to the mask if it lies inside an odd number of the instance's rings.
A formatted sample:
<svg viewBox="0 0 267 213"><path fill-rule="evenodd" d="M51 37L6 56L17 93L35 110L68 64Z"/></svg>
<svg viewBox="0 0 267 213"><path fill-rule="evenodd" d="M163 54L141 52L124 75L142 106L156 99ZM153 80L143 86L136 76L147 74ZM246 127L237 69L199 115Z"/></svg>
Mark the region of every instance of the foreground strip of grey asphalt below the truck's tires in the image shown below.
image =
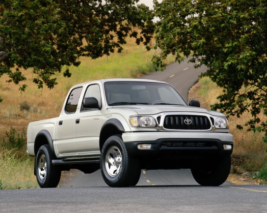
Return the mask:
<svg viewBox="0 0 267 213"><path fill-rule="evenodd" d="M266 212L266 190L267 186L0 190L0 212Z"/></svg>

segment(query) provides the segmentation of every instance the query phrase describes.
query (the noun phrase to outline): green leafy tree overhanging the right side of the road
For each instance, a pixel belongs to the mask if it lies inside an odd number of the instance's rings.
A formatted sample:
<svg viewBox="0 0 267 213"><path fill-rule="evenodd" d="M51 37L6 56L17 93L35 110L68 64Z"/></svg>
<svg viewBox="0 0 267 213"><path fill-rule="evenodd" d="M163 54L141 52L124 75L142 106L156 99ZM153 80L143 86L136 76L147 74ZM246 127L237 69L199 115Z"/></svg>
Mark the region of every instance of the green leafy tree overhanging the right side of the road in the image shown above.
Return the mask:
<svg viewBox="0 0 267 213"><path fill-rule="evenodd" d="M168 54L181 62L193 54L207 66L212 81L223 88L219 103L211 106L228 115L249 111L249 130L265 132L267 142L267 38L265 0L163 0L154 1L157 70L163 70ZM242 129L237 125L237 128Z"/></svg>

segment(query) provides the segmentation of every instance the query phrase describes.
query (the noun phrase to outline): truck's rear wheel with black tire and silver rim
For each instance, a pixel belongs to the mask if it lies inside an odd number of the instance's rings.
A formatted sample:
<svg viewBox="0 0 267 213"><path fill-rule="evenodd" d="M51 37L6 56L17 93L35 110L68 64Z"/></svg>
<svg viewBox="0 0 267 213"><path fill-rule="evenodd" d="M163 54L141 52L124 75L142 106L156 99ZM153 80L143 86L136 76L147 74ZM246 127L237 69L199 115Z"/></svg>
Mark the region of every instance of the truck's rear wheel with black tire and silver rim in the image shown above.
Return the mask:
<svg viewBox="0 0 267 213"><path fill-rule="evenodd" d="M41 188L55 188L58 186L61 170L58 166L52 165L55 155L51 152L49 145L42 145L35 159L35 174Z"/></svg>

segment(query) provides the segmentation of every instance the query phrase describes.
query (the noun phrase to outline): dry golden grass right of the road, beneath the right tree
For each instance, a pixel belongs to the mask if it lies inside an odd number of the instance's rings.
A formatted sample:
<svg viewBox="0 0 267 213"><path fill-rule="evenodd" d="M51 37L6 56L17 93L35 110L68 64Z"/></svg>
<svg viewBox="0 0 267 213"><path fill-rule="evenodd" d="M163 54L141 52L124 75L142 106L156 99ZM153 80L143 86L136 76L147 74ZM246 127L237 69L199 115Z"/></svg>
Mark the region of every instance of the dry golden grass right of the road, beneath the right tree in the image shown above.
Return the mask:
<svg viewBox="0 0 267 213"><path fill-rule="evenodd" d="M201 107L210 109L210 105L215 104L222 89L218 87L209 78L204 77L194 85L190 92L190 99L197 99L201 102ZM240 118L231 116L228 118L230 125L230 133L234 136L233 156L243 156L245 158L241 165L249 171L259 171L263 168L267 161L266 143L262 141L263 133L248 132L235 128L237 124L244 126L247 120L251 117L250 113L244 113Z"/></svg>

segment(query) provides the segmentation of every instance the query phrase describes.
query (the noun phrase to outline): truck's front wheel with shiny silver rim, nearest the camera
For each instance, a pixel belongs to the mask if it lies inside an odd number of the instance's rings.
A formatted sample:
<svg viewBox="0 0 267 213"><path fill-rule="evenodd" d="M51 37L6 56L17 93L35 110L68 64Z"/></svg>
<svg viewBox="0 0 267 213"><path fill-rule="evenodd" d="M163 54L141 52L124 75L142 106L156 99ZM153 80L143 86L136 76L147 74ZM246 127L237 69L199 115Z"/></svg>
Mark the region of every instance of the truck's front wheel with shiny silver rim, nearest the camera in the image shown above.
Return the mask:
<svg viewBox="0 0 267 213"><path fill-rule="evenodd" d="M111 136L105 141L101 150L100 170L110 187L135 186L141 175L139 160L128 156L119 135Z"/></svg>

